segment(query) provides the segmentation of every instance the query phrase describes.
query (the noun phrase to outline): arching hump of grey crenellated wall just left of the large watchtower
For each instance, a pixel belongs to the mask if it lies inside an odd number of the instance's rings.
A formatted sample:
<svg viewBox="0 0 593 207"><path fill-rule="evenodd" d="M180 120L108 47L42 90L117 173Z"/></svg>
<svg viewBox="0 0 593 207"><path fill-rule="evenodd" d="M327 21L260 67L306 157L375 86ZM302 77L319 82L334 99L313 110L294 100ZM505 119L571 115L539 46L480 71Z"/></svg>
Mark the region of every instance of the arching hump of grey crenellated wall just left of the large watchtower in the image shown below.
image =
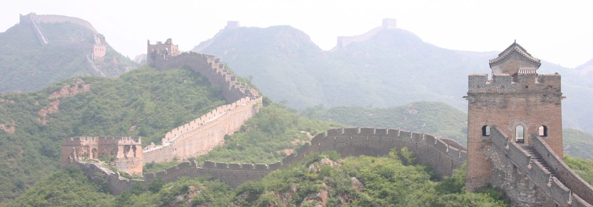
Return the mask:
<svg viewBox="0 0 593 207"><path fill-rule="evenodd" d="M448 140L455 142L454 140ZM456 142L455 142L456 143ZM456 145L461 146L459 143ZM417 163L432 167L436 176L450 176L453 169L463 165L467 158L465 148L455 148L434 135L385 128L338 128L318 134L297 153L282 160L283 166L301 160L312 151L337 151L346 156L387 156L392 148L407 147Z"/></svg>

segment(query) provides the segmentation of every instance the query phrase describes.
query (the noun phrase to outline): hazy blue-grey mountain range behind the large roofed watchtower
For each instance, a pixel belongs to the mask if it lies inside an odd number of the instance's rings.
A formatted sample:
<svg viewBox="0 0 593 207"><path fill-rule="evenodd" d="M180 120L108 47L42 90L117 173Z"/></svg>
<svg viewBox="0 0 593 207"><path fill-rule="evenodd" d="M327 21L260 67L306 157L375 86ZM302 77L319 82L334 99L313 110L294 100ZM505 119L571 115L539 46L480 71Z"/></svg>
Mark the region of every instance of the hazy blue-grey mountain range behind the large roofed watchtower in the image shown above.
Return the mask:
<svg viewBox="0 0 593 207"><path fill-rule="evenodd" d="M369 33L324 51L307 34L287 25L229 24L192 51L221 57L238 75L253 76L252 82L264 94L285 100L292 108L438 101L463 111L467 75L490 73L488 60L498 54L448 50L393 25L384 24ZM568 69L544 61L540 67L539 73L562 75L563 93L568 97L563 101L564 127L593 132L593 110L582 109L593 104L592 79L581 75L593 74L586 73L590 65Z"/></svg>

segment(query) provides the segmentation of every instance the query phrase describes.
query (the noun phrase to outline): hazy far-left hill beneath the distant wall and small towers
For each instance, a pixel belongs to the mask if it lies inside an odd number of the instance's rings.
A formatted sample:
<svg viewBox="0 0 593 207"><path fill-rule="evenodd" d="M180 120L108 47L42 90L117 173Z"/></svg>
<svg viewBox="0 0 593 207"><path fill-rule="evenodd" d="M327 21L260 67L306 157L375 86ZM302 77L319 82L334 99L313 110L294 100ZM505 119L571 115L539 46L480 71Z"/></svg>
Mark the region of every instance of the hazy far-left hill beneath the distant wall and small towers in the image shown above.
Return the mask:
<svg viewBox="0 0 593 207"><path fill-rule="evenodd" d="M42 44L28 24L0 33L0 92L39 90L79 75L119 76L135 64L106 44L106 56L87 65L82 44L94 42L95 33L71 22L40 23L49 40ZM97 72L100 70L100 72Z"/></svg>

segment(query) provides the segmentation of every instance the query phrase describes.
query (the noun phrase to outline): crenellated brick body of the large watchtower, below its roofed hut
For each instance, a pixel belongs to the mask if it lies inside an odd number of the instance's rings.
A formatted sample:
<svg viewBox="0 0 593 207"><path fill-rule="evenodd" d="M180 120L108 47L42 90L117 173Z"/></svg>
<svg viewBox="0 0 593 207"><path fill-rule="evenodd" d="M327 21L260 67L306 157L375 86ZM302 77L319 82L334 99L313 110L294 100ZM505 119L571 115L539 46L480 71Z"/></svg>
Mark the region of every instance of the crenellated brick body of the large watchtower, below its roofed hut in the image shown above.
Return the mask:
<svg viewBox="0 0 593 207"><path fill-rule="evenodd" d="M467 189L489 183L492 163L482 149L490 138L482 136L484 125L499 125L515 140L515 127L522 125L525 143L533 137L527 132L547 127L544 138L562 157L562 92L560 75L519 75L517 82L509 75L470 75L468 81L468 160Z"/></svg>

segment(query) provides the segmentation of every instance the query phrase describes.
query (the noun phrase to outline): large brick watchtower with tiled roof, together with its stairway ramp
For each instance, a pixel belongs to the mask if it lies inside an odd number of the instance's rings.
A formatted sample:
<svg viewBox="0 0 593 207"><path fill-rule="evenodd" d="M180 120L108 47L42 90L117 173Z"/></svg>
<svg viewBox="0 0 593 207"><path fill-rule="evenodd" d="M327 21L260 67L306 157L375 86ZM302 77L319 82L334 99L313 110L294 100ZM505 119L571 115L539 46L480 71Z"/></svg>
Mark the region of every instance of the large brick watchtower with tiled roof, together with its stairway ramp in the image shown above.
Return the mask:
<svg viewBox="0 0 593 207"><path fill-rule="evenodd" d="M469 76L467 190L491 183L514 205L588 206L591 186L562 161L560 75L540 65L514 43L490 60L492 79Z"/></svg>

